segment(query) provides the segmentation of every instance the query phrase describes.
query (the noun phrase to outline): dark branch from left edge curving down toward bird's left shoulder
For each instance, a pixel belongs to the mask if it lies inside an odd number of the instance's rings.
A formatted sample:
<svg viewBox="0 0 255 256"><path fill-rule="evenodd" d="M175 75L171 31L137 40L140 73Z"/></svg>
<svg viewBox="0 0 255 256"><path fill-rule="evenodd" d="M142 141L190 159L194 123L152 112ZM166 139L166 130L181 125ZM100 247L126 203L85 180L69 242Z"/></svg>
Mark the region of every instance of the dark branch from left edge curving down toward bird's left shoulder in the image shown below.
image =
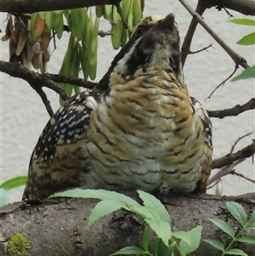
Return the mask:
<svg viewBox="0 0 255 256"><path fill-rule="evenodd" d="M28 70L24 65L17 64L17 63L9 63L6 61L0 60L0 71L7 73L12 77L19 77L26 82L29 82L32 88L42 88L47 87L54 90L57 94L60 95L62 100L68 100L69 96L65 93L65 90L56 82L43 77L43 75L36 73L34 71Z"/></svg>

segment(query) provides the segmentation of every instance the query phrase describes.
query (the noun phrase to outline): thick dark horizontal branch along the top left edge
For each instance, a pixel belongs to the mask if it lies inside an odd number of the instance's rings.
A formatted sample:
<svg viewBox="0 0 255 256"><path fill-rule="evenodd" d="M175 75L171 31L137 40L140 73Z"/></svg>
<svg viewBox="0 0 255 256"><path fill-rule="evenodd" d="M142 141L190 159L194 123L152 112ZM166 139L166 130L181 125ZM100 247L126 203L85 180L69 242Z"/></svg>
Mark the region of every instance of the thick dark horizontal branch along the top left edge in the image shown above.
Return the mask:
<svg viewBox="0 0 255 256"><path fill-rule="evenodd" d="M1 0L0 12L26 14L38 11L74 9L104 4L117 4L120 0Z"/></svg>

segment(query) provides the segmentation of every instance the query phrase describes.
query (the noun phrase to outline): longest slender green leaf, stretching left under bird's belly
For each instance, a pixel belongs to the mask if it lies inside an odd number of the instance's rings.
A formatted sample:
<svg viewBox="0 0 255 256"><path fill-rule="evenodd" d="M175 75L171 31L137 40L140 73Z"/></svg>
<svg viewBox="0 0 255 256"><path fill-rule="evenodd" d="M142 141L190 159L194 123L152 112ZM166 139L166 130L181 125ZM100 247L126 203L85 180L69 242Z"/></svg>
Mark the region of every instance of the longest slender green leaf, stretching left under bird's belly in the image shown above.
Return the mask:
<svg viewBox="0 0 255 256"><path fill-rule="evenodd" d="M125 202L127 207L129 206L140 206L138 202L134 201L132 198L122 195L121 193L117 193L115 191L105 191L105 190L82 190L75 189L64 192L55 193L50 197L82 197L82 198L94 198L100 200L116 200L116 202Z"/></svg>

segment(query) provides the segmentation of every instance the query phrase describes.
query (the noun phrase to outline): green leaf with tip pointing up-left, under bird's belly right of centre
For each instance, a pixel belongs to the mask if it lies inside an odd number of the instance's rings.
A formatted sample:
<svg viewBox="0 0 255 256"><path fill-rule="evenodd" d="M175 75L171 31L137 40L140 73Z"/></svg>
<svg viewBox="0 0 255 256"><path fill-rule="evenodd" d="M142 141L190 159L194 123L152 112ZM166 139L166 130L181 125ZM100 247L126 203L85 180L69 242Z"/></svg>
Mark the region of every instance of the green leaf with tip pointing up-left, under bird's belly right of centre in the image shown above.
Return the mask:
<svg viewBox="0 0 255 256"><path fill-rule="evenodd" d="M155 208L161 219L170 224L170 216L165 206L155 197L144 191L138 191L139 197L143 200L144 206Z"/></svg>

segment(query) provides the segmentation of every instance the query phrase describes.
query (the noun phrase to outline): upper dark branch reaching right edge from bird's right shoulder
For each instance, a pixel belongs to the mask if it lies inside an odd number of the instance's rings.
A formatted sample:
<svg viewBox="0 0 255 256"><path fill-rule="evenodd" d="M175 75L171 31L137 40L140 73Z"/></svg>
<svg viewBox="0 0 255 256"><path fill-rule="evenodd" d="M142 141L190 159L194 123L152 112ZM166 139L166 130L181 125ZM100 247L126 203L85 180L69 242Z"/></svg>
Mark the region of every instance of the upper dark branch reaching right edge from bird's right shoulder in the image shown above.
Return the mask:
<svg viewBox="0 0 255 256"><path fill-rule="evenodd" d="M220 111L207 111L209 117L217 117L217 118L224 118L224 117L233 117L238 116L244 111L250 111L255 109L255 98L252 98L244 105L235 105L232 108L220 110Z"/></svg>

